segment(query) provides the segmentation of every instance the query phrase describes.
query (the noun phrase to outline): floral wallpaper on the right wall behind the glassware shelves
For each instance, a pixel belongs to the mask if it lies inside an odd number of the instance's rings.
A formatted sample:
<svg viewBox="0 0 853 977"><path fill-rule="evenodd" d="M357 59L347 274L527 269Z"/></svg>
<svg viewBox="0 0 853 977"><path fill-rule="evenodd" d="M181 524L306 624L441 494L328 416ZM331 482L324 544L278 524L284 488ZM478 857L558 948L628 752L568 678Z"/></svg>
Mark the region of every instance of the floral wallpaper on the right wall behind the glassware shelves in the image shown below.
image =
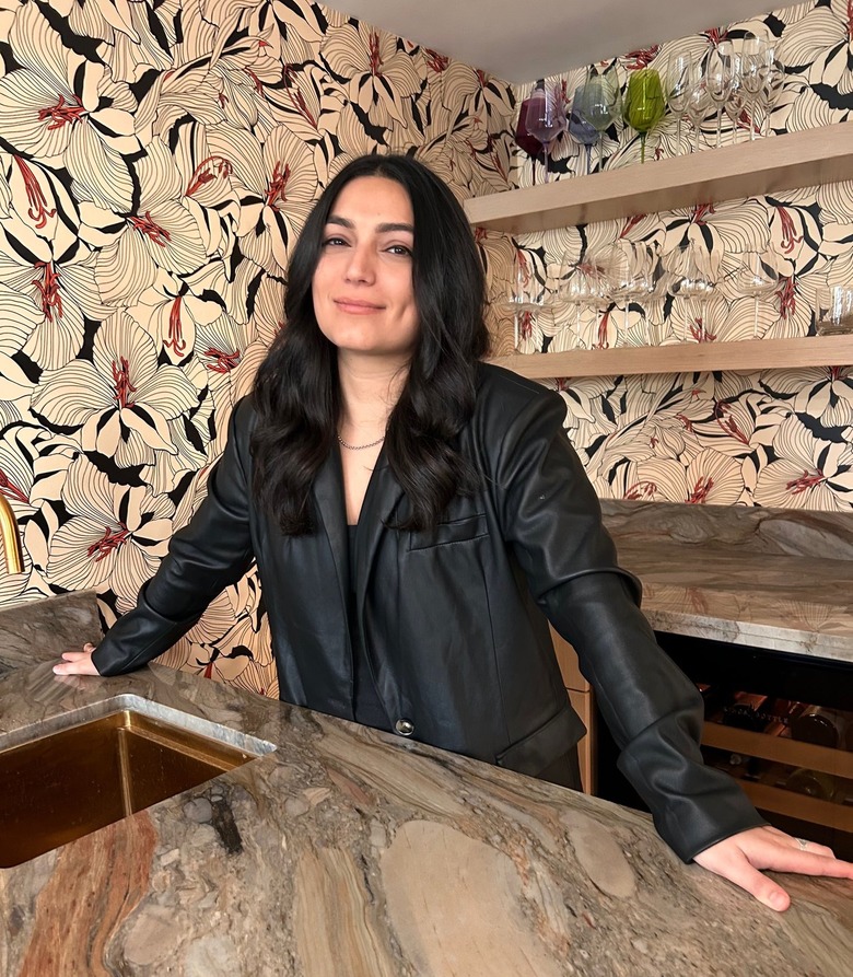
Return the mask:
<svg viewBox="0 0 853 977"><path fill-rule="evenodd" d="M643 67L662 72L673 53L706 56L710 45L731 39L738 49L751 33L775 39L784 66L781 95L764 120L749 106L735 120L722 116L722 142L744 142L749 128L769 125L774 135L846 123L853 109L851 9L841 0L817 0L760 19L632 51L595 66L616 74L622 91ZM566 100L586 69L559 79ZM530 85L516 93L521 104ZM681 142L671 114L648 135L646 162L689 152L694 132L682 124ZM772 138L769 137L769 138ZM713 152L716 113L700 125L700 150ZM593 164L597 165L597 148ZM619 123L604 140L606 168L640 165L640 140ZM556 178L585 172L585 154L561 137L553 149ZM518 154L516 185L541 182L541 158ZM493 236L493 235L489 235ZM572 348L732 341L814 335L820 286L853 286L853 183L785 190L775 196L716 202L669 213L645 214L531 234L515 245L525 271L552 294L564 268L595 261L615 241L646 243L668 261L682 260L694 244L710 255L720 282L703 309L661 290L645 302L632 299L595 310L557 298L537 314L521 316L523 352ZM492 243L492 294L505 298L510 263ZM747 252L763 253L778 276L755 301L739 290L738 266ZM500 303L495 303L500 309ZM700 318L703 319L700 322ZM704 335L702 335L704 326ZM499 351L509 352L513 323L502 313ZM815 368L743 373L657 374L560 379L569 429L600 497L669 502L708 502L850 512L853 510L853 370Z"/></svg>

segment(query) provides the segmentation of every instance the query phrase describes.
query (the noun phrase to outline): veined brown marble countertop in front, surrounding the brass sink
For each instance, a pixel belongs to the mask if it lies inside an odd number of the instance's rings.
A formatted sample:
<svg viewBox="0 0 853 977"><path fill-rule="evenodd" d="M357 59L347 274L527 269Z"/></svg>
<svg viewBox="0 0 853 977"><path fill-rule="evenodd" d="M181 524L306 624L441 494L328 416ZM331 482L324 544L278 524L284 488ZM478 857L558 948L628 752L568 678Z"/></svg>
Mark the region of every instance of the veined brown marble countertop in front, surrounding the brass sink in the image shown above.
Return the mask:
<svg viewBox="0 0 853 977"><path fill-rule="evenodd" d="M846 883L788 880L780 916L636 812L162 666L58 677L65 639L30 638L0 675L0 746L131 695L277 748L0 870L8 977L837 977L853 959Z"/></svg>

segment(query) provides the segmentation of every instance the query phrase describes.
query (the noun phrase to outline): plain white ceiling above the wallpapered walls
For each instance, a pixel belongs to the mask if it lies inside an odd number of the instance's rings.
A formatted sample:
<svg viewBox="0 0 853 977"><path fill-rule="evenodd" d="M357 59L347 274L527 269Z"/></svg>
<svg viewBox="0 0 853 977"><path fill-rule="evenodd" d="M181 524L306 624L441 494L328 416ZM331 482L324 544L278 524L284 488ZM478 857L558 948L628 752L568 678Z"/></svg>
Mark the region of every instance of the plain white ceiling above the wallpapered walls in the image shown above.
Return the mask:
<svg viewBox="0 0 853 977"><path fill-rule="evenodd" d="M786 4L780 0L331 0L325 5L519 83Z"/></svg>

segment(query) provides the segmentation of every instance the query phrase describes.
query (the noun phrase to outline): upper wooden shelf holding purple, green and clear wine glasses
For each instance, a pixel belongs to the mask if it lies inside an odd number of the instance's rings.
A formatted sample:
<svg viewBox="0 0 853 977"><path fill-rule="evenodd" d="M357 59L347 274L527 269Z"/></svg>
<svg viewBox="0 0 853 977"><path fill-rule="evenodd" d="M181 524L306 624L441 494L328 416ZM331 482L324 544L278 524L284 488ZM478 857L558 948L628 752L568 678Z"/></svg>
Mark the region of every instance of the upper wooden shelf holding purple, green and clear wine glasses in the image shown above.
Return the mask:
<svg viewBox="0 0 853 977"><path fill-rule="evenodd" d="M478 228L523 234L853 177L853 124L558 179L465 201Z"/></svg>

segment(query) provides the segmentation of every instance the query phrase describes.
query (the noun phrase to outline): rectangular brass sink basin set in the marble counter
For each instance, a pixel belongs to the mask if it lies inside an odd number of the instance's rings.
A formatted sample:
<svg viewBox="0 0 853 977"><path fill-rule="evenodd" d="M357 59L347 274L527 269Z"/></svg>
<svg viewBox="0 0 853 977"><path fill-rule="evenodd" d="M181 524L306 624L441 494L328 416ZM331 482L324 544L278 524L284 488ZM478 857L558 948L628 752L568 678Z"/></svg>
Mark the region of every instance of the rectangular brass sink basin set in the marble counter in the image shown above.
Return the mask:
<svg viewBox="0 0 853 977"><path fill-rule="evenodd" d="M67 717L44 723L35 737L0 749L0 868L21 864L274 749L136 696L121 699L132 701L103 703L106 714L92 718L89 710L71 724ZM62 728L56 729L57 722Z"/></svg>

